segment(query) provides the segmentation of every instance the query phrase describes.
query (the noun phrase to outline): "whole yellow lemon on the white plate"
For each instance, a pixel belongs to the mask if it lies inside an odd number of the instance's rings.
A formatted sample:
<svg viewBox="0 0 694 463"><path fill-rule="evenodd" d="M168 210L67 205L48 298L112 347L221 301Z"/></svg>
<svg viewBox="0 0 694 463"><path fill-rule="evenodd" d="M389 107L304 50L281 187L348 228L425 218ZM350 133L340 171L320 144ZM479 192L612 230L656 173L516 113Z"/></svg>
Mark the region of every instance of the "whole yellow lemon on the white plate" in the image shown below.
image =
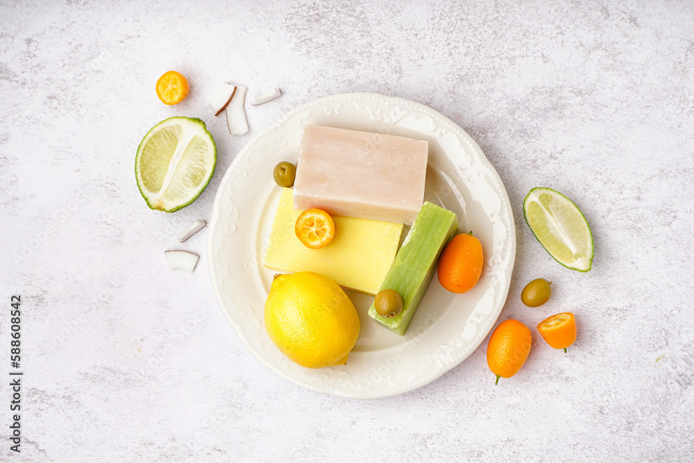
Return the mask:
<svg viewBox="0 0 694 463"><path fill-rule="evenodd" d="M265 329L289 360L307 368L331 367L346 364L359 336L359 317L335 281L300 271L272 282Z"/></svg>

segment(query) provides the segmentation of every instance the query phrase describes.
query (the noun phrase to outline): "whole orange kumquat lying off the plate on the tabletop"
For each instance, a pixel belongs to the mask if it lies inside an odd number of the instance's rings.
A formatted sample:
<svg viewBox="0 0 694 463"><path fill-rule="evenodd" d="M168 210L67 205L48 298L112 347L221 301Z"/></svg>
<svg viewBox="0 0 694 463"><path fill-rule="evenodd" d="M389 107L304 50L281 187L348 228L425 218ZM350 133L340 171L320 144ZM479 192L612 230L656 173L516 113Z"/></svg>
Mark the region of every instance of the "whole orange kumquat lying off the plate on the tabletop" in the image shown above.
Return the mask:
<svg viewBox="0 0 694 463"><path fill-rule="evenodd" d="M523 367L527 354L530 353L532 335L530 329L518 320L503 321L489 338L486 348L486 363L499 378L511 378Z"/></svg>

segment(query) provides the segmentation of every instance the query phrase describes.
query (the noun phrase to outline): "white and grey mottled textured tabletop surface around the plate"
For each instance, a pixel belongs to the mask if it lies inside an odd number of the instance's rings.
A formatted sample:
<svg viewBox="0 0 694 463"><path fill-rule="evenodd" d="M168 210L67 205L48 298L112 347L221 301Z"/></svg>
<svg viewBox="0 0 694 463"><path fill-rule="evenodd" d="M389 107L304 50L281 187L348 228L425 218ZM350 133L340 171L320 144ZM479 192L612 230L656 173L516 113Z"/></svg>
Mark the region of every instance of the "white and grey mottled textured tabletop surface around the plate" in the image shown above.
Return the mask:
<svg viewBox="0 0 694 463"><path fill-rule="evenodd" d="M0 374L22 294L24 441L15 455L3 437L0 460L694 460L691 1L19 3L0 3ZM153 91L169 69L191 83L172 108ZM206 108L221 81L285 94L230 137ZM201 253L194 273L167 269L162 251L209 218L254 133L360 91L424 103L482 146L516 219L500 321L573 311L568 355L535 335L521 372L494 387L485 340L414 392L324 396L240 344L212 294L206 233L180 246ZM171 115L203 117L219 159L202 196L164 214L146 208L133 159ZM525 226L534 186L586 214L589 273ZM525 308L539 276L555 294Z"/></svg>

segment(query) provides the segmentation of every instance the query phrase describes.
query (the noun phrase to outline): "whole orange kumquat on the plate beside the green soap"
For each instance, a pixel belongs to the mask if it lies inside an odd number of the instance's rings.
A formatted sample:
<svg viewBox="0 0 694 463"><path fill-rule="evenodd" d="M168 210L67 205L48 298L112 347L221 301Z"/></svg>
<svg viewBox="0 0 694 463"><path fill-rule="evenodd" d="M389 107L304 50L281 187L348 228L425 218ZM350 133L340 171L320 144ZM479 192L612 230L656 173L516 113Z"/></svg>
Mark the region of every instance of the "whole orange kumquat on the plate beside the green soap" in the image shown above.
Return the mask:
<svg viewBox="0 0 694 463"><path fill-rule="evenodd" d="M484 257L480 240L473 235L456 235L443 248L439 258L439 283L456 294L468 292L480 280L482 265Z"/></svg>

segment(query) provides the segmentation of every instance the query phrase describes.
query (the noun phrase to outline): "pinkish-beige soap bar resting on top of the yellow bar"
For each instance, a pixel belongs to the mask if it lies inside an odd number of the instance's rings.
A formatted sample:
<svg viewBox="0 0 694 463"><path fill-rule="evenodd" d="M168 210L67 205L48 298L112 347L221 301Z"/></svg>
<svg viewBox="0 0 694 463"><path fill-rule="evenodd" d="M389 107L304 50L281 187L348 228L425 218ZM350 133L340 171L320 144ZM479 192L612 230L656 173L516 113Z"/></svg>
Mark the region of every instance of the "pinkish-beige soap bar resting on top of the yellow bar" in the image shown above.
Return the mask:
<svg viewBox="0 0 694 463"><path fill-rule="evenodd" d="M294 181L297 209L412 224L424 202L429 143L304 126Z"/></svg>

